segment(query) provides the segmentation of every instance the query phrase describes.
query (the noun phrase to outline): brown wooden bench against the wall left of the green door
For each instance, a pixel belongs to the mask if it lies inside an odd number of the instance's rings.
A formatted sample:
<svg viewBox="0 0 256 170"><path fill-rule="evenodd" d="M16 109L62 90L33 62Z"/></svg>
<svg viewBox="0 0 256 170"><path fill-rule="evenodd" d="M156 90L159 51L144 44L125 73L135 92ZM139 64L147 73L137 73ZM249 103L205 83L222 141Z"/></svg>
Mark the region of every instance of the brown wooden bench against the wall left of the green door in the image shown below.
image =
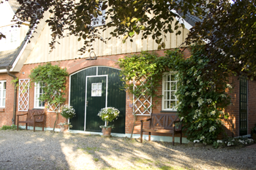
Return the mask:
<svg viewBox="0 0 256 170"><path fill-rule="evenodd" d="M19 120L20 116L26 115L26 120ZM29 109L29 111L26 114L17 115L17 131L19 123L26 123L26 130L28 130L28 124L34 125L34 131L35 131L35 125L36 123L42 123L42 131L44 131L45 126L45 110L44 109Z"/></svg>

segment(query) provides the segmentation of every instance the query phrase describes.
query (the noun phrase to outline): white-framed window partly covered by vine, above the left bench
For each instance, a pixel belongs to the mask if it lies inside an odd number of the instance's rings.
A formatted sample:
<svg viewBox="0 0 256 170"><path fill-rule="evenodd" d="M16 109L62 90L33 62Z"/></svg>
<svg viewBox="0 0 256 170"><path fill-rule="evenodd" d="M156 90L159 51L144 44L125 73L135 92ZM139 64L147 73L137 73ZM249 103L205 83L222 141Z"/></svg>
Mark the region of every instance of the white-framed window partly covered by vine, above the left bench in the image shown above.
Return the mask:
<svg viewBox="0 0 256 170"><path fill-rule="evenodd" d="M44 93L43 87L45 87L43 82L34 83L34 108L45 108L45 101L39 101L39 96Z"/></svg>

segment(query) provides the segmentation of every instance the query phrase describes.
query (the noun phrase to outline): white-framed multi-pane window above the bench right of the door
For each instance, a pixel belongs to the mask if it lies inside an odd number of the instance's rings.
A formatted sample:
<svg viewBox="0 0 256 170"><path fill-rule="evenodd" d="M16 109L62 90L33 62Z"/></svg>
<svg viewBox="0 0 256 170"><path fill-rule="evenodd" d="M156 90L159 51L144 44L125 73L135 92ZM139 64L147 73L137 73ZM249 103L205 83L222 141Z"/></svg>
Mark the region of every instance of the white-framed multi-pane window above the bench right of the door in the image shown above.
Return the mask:
<svg viewBox="0 0 256 170"><path fill-rule="evenodd" d="M176 110L178 99L175 95L177 91L176 72L167 72L162 76L162 110Z"/></svg>

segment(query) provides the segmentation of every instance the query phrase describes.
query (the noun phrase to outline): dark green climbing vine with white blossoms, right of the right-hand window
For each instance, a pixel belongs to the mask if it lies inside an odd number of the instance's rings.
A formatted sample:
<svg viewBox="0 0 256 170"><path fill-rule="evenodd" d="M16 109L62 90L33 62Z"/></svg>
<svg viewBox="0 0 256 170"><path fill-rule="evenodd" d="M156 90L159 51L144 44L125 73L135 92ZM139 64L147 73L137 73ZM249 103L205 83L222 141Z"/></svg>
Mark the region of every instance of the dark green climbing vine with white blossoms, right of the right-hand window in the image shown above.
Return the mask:
<svg viewBox="0 0 256 170"><path fill-rule="evenodd" d="M187 139L212 144L224 133L222 119L230 104L227 90L228 71L224 66L212 69L211 58L204 57L204 47L190 48L190 58L170 58L171 67L178 72L177 112L184 121ZM170 52L167 52L169 55Z"/></svg>

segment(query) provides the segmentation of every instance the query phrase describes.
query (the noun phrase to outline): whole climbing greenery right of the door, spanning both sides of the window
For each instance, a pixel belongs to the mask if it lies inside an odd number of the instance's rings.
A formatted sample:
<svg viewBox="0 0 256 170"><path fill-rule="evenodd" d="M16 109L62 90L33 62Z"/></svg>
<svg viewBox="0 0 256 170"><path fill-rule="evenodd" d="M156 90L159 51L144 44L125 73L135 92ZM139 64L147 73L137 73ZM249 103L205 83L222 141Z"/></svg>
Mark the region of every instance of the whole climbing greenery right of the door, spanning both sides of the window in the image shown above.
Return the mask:
<svg viewBox="0 0 256 170"><path fill-rule="evenodd" d="M190 47L190 51L190 58L184 58L180 50L167 50L162 57L143 52L120 59L121 78L125 88L135 96L140 96L146 89L144 95L161 97L156 92L162 73L169 70L177 72L176 109L184 122L187 139L212 144L218 134L224 132L222 119L227 118L225 107L230 104L227 90L232 89L227 84L230 72L224 63L215 69L211 58L205 57L207 52L203 46ZM148 80L139 88L133 88L132 82L145 75Z"/></svg>

